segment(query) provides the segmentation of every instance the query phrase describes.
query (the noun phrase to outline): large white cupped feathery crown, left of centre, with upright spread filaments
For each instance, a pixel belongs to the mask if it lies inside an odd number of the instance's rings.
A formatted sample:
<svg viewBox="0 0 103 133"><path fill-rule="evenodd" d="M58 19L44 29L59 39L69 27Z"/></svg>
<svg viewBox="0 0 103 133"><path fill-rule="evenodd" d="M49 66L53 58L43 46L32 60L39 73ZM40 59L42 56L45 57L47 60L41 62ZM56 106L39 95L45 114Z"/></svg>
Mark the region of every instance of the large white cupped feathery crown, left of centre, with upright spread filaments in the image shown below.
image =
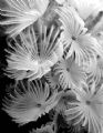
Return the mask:
<svg viewBox="0 0 103 133"><path fill-rule="evenodd" d="M58 40L60 30L53 25L49 33L45 25L41 25L39 30L40 37L37 37L33 27L30 27L27 34L20 33L21 42L16 38L13 44L9 42L7 75L11 79L42 78L61 59L63 45Z"/></svg>

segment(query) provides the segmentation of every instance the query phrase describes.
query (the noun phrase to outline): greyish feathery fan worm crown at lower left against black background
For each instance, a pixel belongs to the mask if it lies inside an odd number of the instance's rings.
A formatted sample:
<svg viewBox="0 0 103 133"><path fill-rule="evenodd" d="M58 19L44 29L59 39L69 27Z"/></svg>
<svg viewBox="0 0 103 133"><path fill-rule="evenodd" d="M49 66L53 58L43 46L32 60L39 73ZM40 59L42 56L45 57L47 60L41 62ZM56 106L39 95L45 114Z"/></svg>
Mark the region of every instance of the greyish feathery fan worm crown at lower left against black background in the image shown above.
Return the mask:
<svg viewBox="0 0 103 133"><path fill-rule="evenodd" d="M4 99L3 110L20 125L37 121L58 104L58 92L50 95L49 84L39 81L18 83L13 94Z"/></svg>

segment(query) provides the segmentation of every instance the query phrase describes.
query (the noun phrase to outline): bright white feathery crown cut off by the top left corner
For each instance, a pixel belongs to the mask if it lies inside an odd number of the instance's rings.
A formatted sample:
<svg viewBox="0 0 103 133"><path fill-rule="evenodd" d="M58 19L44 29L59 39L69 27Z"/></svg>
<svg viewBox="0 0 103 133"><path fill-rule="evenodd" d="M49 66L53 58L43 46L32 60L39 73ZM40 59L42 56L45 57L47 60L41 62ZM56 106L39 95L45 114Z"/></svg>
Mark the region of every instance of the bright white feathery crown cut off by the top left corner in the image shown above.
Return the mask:
<svg viewBox="0 0 103 133"><path fill-rule="evenodd" d="M0 14L8 17L0 21L0 25L8 25L7 33L19 34L27 27L33 24L41 18L48 6L49 0L4 0L6 6L0 6Z"/></svg>

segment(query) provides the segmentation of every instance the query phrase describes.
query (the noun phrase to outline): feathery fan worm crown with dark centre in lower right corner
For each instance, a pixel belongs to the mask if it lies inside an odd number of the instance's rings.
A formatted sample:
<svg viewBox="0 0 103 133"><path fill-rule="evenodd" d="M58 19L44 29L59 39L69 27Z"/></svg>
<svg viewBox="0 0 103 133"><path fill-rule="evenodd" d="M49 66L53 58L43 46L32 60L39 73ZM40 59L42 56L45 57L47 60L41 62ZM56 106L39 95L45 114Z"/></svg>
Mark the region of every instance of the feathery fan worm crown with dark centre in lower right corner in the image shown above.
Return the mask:
<svg viewBox="0 0 103 133"><path fill-rule="evenodd" d="M73 90L76 95L74 102L69 102L65 110L66 121L73 121L74 125L87 126L89 133L102 133L103 130L103 84L95 86L84 85Z"/></svg>

